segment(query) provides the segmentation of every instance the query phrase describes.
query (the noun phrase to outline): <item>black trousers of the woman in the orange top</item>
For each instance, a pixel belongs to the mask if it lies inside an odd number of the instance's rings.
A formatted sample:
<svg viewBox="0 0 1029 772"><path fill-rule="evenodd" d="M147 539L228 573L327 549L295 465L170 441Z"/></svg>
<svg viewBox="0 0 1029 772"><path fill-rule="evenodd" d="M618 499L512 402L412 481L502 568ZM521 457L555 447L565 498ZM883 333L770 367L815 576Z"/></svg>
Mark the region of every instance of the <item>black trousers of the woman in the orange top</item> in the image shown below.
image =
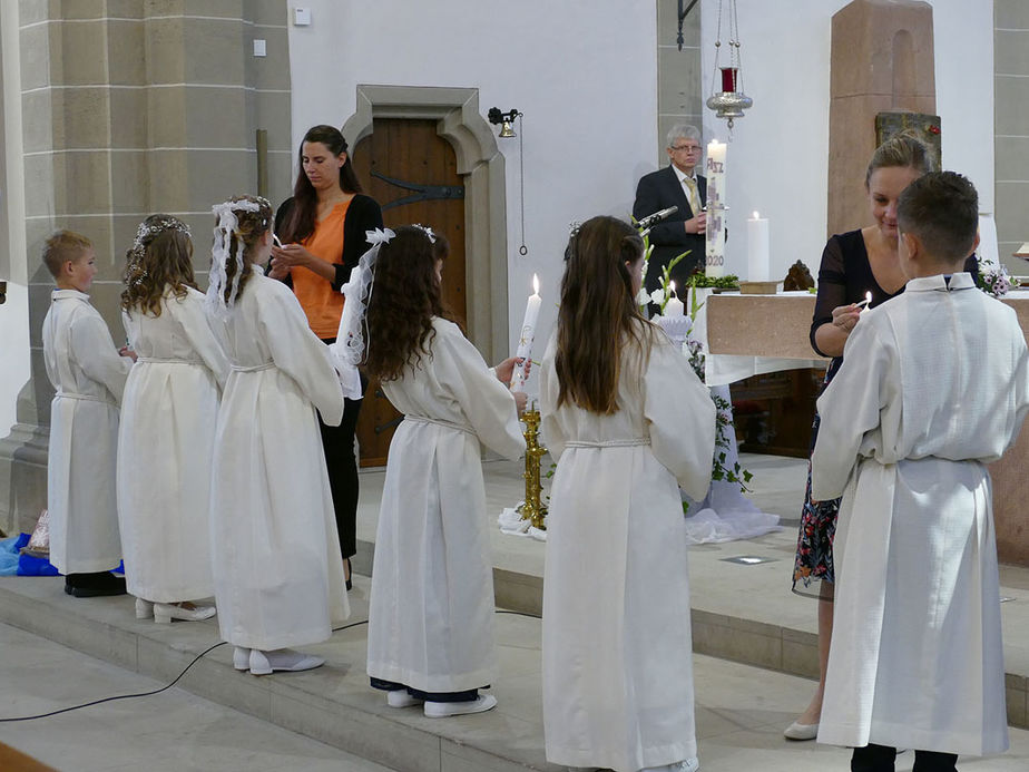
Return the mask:
<svg viewBox="0 0 1029 772"><path fill-rule="evenodd" d="M334 338L330 338L323 342L334 341ZM361 388L363 390L366 387L367 379L361 373ZM340 531L340 551L344 558L357 554L357 459L354 457L354 434L362 401L344 400L343 421L337 427L325 426L318 416L332 506L336 514L336 530Z"/></svg>

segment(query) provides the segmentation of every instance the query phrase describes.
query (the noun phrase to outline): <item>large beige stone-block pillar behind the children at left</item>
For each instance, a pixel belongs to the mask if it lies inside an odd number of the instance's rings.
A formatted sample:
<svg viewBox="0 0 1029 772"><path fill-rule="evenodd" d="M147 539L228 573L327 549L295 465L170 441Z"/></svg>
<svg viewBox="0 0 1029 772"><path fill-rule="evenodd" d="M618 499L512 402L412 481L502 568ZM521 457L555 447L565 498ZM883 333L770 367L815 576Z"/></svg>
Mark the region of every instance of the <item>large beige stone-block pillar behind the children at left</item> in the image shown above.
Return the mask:
<svg viewBox="0 0 1029 772"><path fill-rule="evenodd" d="M20 0L19 14L31 375L0 440L4 530L31 527L46 507L47 235L66 227L94 242L92 302L120 342L125 252L144 217L189 224L204 289L210 206L256 193L257 129L267 130L273 197L292 189L285 0ZM253 56L254 38L266 57Z"/></svg>

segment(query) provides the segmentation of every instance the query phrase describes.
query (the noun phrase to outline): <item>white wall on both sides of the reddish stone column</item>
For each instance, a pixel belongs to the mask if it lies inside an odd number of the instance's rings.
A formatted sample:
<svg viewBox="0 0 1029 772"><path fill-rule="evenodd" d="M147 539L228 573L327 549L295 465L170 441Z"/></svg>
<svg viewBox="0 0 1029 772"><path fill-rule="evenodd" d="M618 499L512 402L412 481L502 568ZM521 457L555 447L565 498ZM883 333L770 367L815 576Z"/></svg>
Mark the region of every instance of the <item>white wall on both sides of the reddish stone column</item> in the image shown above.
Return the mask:
<svg viewBox="0 0 1029 772"><path fill-rule="evenodd" d="M825 245L832 16L849 0L737 0L744 90L754 107L735 121L726 162L727 270L746 274L754 209L771 221L772 275L796 260L816 274ZM993 211L993 3L930 0L943 166L967 175ZM718 0L703 0L704 98L710 92ZM723 41L727 39L723 23ZM726 46L723 42L723 49ZM723 66L727 62L723 55ZM705 108L705 143L724 120ZM853 180L862 185L863 180ZM854 227L865 219L855 213Z"/></svg>

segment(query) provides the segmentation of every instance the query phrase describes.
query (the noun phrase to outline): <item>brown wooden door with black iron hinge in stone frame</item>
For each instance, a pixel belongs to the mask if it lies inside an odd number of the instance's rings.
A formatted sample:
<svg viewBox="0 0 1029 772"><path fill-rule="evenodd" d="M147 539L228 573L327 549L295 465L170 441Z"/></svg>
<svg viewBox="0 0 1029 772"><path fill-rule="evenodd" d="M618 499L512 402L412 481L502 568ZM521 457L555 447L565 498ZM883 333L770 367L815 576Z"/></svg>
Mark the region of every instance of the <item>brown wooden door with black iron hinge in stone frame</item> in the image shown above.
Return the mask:
<svg viewBox="0 0 1029 772"><path fill-rule="evenodd" d="M354 170L364 192L382 206L386 227L420 223L450 242L443 264L443 302L461 324L468 319L464 284L464 182L450 144L435 120L375 119L357 143ZM386 462L393 430L402 416L376 381L369 383L357 420L361 466Z"/></svg>

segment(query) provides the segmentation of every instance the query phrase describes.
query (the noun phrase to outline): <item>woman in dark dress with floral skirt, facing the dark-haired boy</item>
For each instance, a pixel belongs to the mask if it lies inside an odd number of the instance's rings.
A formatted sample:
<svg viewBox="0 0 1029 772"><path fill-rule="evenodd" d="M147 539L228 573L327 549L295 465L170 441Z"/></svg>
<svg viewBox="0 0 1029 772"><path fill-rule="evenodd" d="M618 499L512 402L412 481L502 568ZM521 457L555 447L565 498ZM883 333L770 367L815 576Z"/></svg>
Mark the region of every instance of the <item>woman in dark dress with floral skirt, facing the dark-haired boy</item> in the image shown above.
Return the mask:
<svg viewBox="0 0 1029 772"><path fill-rule="evenodd" d="M857 303L871 295L875 307L904 291L906 278L898 262L896 199L908 185L931 172L932 158L917 138L900 134L876 148L865 174L865 190L874 225L837 234L829 240L819 268L819 294L811 323L811 346L820 356L832 356L825 385L843 363L843 346L861 319ZM974 255L966 271L978 274ZM811 447L819 432L819 416L812 426ZM825 667L833 628L833 537L840 499L811 499L811 465L801 512L793 592L819 598L819 688L807 710L784 732L788 740L814 740L822 713ZM814 592L812 583L817 582Z"/></svg>

